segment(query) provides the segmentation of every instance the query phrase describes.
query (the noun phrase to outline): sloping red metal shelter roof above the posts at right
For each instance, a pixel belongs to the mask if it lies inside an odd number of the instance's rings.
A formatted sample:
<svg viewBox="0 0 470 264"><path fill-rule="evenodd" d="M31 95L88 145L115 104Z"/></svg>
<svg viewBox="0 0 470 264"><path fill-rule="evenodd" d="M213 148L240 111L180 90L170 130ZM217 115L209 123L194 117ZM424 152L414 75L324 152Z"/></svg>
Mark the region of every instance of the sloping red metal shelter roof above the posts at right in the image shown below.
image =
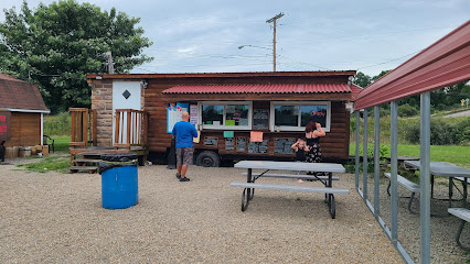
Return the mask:
<svg viewBox="0 0 470 264"><path fill-rule="evenodd" d="M364 88L356 110L470 79L470 20Z"/></svg>

